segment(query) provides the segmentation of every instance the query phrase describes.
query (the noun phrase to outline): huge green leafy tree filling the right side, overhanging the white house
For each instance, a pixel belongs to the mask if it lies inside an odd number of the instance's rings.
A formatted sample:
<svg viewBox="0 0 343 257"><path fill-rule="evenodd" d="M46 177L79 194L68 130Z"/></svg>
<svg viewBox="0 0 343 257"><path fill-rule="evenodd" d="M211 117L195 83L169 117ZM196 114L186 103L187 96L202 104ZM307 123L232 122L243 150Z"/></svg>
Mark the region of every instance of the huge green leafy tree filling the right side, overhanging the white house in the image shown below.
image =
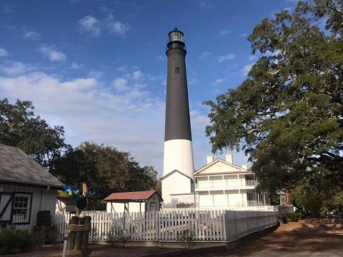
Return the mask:
<svg viewBox="0 0 343 257"><path fill-rule="evenodd" d="M262 56L248 78L205 103L212 150L244 149L269 191L306 177L343 185L342 5L299 1L264 19L249 36Z"/></svg>

